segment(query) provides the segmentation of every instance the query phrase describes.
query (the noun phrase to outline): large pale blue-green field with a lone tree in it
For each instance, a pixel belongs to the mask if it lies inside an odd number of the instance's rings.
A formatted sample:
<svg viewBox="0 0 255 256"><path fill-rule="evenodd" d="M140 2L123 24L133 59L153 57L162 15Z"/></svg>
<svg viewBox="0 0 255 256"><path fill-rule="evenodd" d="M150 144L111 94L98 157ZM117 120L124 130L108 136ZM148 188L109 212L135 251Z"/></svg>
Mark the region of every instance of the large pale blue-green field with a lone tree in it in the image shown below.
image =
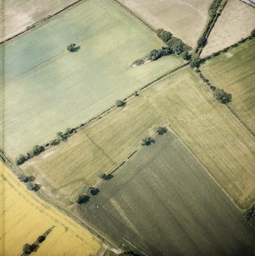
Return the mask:
<svg viewBox="0 0 255 256"><path fill-rule="evenodd" d="M70 43L81 49L69 53ZM114 2L90 0L0 47L5 151L11 157L24 154L183 63L164 57L130 67L162 45Z"/></svg>

